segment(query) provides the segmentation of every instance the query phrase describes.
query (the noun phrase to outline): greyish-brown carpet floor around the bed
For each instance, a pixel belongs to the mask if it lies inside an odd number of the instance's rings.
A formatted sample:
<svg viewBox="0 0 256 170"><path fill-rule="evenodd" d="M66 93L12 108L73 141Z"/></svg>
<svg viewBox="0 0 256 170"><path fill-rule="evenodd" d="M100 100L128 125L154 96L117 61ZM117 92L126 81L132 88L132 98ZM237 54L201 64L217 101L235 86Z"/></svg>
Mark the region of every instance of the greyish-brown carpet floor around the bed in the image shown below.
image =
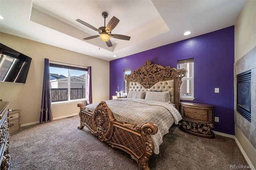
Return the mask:
<svg viewBox="0 0 256 170"><path fill-rule="evenodd" d="M84 127L79 116L22 127L10 138L11 170L138 170L128 154L112 149ZM227 170L248 165L233 138L187 134L174 126L149 160L151 170Z"/></svg>

